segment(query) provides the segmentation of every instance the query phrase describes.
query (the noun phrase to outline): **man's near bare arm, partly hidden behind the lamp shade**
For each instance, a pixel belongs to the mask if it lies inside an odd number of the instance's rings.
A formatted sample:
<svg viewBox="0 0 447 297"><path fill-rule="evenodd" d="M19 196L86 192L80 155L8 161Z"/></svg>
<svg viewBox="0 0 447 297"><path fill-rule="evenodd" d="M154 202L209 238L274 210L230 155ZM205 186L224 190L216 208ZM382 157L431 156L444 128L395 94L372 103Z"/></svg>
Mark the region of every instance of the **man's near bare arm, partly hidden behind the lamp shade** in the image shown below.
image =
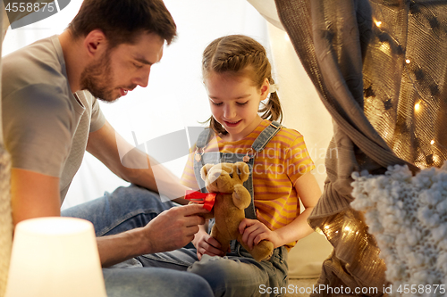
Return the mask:
<svg viewBox="0 0 447 297"><path fill-rule="evenodd" d="M59 178L24 169L12 169L13 223L38 217L60 215ZM205 219L202 205L191 204L166 210L146 227L119 235L97 238L101 264L114 265L146 253L172 251L190 243Z"/></svg>

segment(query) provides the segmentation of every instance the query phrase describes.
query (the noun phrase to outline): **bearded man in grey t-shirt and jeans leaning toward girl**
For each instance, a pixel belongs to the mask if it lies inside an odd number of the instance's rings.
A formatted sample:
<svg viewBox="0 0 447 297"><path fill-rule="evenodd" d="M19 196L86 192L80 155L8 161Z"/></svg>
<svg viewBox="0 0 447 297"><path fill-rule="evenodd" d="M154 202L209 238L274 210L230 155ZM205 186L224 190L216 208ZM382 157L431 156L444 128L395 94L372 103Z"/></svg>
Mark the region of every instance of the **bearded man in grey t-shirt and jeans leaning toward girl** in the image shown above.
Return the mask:
<svg viewBox="0 0 447 297"><path fill-rule="evenodd" d="M119 177L138 185L81 206L90 214L97 212L86 219L93 221L97 235L107 235L97 238L103 267L190 243L198 224L204 223L198 213L206 210L200 205L171 209L172 203L162 203L142 188L156 192L163 186L171 199L185 190L167 174L157 177L156 184L150 166L122 165L141 157L153 161L133 151L126 156L131 160L121 161L117 146L128 144L115 134L95 98L113 102L137 86L146 87L164 42L169 45L175 34L175 23L161 0L86 0L63 34L4 57L3 128L13 163L14 225L61 214L63 198L87 150ZM104 274L109 296L211 295L200 277L173 270L115 268L104 269ZM173 279L178 287L169 283Z"/></svg>

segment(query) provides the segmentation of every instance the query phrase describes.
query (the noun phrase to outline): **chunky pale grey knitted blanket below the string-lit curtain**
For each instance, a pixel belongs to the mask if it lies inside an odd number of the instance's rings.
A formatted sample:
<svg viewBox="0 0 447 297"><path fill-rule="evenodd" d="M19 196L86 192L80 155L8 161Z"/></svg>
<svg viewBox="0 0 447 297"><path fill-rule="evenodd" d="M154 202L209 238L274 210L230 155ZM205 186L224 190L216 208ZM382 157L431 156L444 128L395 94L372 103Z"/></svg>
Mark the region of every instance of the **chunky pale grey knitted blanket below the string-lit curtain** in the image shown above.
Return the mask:
<svg viewBox="0 0 447 297"><path fill-rule="evenodd" d="M391 166L382 176L352 174L350 203L365 211L392 295L445 296L447 285L447 162L412 176Z"/></svg>

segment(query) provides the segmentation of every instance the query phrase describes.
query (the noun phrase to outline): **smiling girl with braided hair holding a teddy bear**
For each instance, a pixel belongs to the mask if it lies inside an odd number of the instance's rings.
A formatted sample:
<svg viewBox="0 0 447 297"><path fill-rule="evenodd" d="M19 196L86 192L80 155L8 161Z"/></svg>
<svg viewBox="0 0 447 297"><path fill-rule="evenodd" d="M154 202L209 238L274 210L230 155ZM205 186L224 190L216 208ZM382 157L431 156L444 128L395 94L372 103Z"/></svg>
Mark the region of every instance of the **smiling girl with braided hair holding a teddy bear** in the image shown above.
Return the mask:
<svg viewBox="0 0 447 297"><path fill-rule="evenodd" d="M257 262L233 243L225 254L202 227L193 240L195 249L145 257L164 262L156 266L203 276L215 296L280 295L286 289L287 252L313 232L307 219L320 196L310 173L315 166L303 136L272 122L281 118L282 109L262 45L240 35L215 39L204 51L202 70L213 115L210 129L199 136L196 153L190 154L182 183L203 190L198 169L204 163L248 162L251 179L244 186L254 204L246 210L240 234L250 248L261 240L271 241L274 253ZM305 208L301 213L299 200Z"/></svg>

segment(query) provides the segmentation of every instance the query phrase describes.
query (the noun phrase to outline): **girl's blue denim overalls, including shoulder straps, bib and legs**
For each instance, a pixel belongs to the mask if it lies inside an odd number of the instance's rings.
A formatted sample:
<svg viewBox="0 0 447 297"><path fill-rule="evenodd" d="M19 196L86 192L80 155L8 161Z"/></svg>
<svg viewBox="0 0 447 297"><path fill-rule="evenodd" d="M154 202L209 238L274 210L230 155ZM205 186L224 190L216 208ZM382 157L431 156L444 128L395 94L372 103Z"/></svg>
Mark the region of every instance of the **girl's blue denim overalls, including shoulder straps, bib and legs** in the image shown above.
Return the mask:
<svg viewBox="0 0 447 297"><path fill-rule="evenodd" d="M221 162L246 161L249 165L249 179L244 186L251 195L251 205L245 210L246 217L257 219L253 202L253 166L256 153L261 152L266 144L281 129L281 125L272 122L254 141L248 153L203 153L214 136L214 131L206 129L198 136L197 151L194 156L194 173L198 186L206 192L205 182L200 177L200 169L205 164ZM245 157L245 160L244 160ZM197 158L197 159L196 159ZM225 257L210 257L207 254L198 260L197 250L186 246L172 252L158 252L137 257L144 267L173 268L185 270L205 278L216 296L281 296L276 289L287 285L287 249L282 246L274 249L270 260L257 262L239 242L232 241L232 252ZM173 280L174 282L174 280ZM276 293L275 293L276 292Z"/></svg>

